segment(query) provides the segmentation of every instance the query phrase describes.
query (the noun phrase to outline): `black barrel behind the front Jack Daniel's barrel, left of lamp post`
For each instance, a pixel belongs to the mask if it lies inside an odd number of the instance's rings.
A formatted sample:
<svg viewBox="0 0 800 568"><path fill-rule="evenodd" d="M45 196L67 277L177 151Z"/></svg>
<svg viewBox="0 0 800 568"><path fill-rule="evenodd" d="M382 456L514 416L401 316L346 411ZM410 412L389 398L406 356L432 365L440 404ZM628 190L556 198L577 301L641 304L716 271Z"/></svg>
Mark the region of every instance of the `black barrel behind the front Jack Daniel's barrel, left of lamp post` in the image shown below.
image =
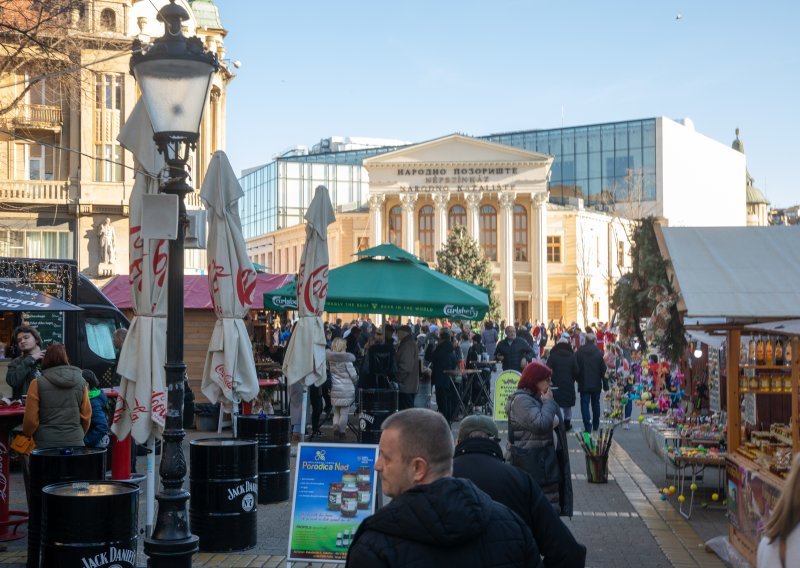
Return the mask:
<svg viewBox="0 0 800 568"><path fill-rule="evenodd" d="M42 488L66 481L102 481L106 473L105 448L49 448L30 456L28 500L28 568L39 567ZM46 566L46 564L44 564Z"/></svg>

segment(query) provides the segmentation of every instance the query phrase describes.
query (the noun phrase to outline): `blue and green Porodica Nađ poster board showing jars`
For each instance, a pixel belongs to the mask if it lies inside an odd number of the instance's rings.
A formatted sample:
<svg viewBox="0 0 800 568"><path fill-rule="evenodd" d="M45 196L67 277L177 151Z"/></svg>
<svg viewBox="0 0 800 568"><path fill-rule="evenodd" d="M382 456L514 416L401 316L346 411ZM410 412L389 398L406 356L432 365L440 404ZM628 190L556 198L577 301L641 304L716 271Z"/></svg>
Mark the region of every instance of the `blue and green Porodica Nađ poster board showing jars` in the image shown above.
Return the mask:
<svg viewBox="0 0 800 568"><path fill-rule="evenodd" d="M289 561L344 564L361 521L375 511L378 446L300 444Z"/></svg>

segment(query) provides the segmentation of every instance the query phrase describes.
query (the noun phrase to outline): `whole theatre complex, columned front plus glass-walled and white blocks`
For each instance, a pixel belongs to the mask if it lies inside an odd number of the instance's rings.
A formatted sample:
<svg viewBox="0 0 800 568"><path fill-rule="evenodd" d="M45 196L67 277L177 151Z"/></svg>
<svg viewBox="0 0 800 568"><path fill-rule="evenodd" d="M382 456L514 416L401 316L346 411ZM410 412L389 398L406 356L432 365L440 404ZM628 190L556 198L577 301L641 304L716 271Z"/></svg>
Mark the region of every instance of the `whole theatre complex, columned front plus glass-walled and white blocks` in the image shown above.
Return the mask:
<svg viewBox="0 0 800 568"><path fill-rule="evenodd" d="M331 267L392 242L436 265L463 225L491 262L501 319L610 321L630 269L629 219L744 225L744 155L665 117L413 144L328 138L246 170L243 230L254 262L297 272L303 215L325 185L337 220ZM636 199L627 199L636 195ZM609 206L609 197L621 197Z"/></svg>

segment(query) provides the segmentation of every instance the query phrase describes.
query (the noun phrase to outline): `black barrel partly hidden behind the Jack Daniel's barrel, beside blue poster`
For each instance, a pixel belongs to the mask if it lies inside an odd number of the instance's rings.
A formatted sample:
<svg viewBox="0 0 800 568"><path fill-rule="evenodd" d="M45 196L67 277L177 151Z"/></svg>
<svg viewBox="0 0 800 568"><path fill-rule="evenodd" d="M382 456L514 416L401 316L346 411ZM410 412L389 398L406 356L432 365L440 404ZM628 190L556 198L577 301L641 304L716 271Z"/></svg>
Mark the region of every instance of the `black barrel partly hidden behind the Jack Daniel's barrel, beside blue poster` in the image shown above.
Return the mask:
<svg viewBox="0 0 800 568"><path fill-rule="evenodd" d="M239 416L237 436L258 442L258 502L289 500L291 419L288 416Z"/></svg>

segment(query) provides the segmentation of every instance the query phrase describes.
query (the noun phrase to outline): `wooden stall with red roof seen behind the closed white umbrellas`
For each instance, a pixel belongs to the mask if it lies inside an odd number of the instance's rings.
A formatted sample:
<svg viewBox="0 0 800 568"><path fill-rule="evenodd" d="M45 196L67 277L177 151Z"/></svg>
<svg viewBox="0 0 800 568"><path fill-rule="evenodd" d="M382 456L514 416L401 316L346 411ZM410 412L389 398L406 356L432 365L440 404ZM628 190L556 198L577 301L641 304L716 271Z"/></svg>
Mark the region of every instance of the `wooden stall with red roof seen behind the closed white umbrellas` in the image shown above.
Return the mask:
<svg viewBox="0 0 800 568"><path fill-rule="evenodd" d="M258 274L253 293L253 310L263 310L264 293L279 288L294 277L289 274ZM103 287L103 293L117 306L128 319L133 320L130 283L127 275L115 276ZM184 362L189 385L197 397L197 402L207 402L200 390L203 381L203 368L206 353L214 331L217 315L211 303L208 277L204 275L184 276ZM266 325L264 325L266 327ZM258 337L266 334L261 325L254 327ZM251 338L252 339L252 338Z"/></svg>

